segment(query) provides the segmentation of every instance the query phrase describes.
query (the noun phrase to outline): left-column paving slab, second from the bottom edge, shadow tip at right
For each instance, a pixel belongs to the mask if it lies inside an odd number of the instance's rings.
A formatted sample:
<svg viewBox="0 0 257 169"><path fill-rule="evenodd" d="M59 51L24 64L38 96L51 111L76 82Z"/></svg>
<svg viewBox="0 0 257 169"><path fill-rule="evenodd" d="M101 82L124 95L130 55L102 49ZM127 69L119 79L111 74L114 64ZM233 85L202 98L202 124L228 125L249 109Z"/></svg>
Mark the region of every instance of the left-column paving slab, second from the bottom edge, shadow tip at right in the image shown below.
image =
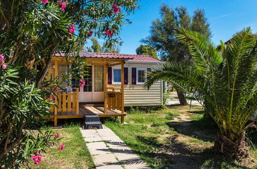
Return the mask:
<svg viewBox="0 0 257 169"><path fill-rule="evenodd" d="M86 146L91 155L104 155L111 153L110 149L103 141L86 143Z"/></svg>

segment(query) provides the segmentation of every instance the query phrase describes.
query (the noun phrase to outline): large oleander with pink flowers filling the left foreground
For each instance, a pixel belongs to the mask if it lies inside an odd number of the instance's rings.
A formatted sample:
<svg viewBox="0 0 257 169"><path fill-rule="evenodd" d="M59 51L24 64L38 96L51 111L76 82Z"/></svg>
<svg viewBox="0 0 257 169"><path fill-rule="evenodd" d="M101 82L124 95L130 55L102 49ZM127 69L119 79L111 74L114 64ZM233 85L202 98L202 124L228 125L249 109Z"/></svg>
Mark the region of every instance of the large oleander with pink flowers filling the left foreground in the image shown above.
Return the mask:
<svg viewBox="0 0 257 169"><path fill-rule="evenodd" d="M137 0L0 0L0 164L17 168L40 138L26 129L38 128L49 115L55 89L62 82L46 81L55 53L64 53L71 69L64 79L80 81L81 46L92 36L106 46L121 44L121 26L129 23ZM75 59L70 59L73 55ZM36 68L39 67L39 70ZM43 136L47 142L48 136ZM39 140L38 140L39 139Z"/></svg>

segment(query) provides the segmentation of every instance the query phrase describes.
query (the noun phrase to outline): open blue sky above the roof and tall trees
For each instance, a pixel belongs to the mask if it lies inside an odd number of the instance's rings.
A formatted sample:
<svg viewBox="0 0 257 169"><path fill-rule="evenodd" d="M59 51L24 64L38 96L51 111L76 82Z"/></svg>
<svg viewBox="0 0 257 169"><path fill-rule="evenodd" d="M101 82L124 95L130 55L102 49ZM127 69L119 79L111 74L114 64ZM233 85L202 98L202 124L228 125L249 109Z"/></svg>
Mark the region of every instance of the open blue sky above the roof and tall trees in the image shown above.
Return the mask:
<svg viewBox="0 0 257 169"><path fill-rule="evenodd" d="M257 0L141 0L140 8L128 16L132 23L120 32L123 41L121 54L136 53L140 40L149 35L152 21L160 17L162 3L172 8L184 6L191 16L197 8L204 9L212 32L211 39L216 44L220 40L226 42L244 27L250 26L253 32L257 32Z"/></svg>

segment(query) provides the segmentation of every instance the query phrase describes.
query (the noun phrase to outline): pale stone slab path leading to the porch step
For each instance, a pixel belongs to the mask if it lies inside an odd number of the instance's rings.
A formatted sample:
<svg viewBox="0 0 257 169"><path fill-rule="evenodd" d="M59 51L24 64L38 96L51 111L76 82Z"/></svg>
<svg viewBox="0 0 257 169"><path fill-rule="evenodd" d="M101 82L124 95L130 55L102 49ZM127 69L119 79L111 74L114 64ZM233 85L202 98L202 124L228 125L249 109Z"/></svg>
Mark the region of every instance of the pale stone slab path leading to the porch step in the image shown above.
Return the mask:
<svg viewBox="0 0 257 169"><path fill-rule="evenodd" d="M96 169L150 169L110 128L80 129Z"/></svg>

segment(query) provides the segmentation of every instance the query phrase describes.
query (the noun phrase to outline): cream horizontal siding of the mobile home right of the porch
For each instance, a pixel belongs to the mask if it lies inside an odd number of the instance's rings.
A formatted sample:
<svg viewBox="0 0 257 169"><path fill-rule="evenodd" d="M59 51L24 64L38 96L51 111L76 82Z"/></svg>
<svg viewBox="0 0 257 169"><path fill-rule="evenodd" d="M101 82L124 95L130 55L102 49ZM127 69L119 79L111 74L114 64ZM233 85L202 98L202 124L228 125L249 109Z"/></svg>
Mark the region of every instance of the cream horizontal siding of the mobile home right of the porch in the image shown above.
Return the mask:
<svg viewBox="0 0 257 169"><path fill-rule="evenodd" d="M128 84L124 85L124 106L157 106L162 105L162 83L157 82L149 90L143 84L132 84L132 68L151 68L152 64L126 63ZM115 67L113 67L115 68ZM117 66L117 68L120 68ZM108 87L120 87L120 84L108 84Z"/></svg>

